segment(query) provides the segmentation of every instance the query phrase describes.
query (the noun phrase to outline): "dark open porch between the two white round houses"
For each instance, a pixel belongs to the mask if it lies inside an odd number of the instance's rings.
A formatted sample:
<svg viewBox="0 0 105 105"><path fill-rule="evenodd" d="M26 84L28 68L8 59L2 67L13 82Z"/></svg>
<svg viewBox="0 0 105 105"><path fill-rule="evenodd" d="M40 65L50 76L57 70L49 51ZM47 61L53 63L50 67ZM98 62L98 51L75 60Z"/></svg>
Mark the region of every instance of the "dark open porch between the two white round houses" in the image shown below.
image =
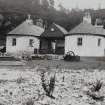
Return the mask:
<svg viewBox="0 0 105 105"><path fill-rule="evenodd" d="M41 40L39 54L64 54L64 39Z"/></svg>

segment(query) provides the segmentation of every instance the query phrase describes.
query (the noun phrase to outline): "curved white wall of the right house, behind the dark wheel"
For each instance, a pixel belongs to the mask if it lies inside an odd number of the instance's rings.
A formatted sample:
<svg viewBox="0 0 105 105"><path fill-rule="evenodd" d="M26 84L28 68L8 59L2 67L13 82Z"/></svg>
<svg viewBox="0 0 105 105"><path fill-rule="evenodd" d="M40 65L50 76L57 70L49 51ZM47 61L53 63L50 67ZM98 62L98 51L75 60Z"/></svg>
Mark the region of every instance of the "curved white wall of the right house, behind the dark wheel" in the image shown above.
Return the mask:
<svg viewBox="0 0 105 105"><path fill-rule="evenodd" d="M83 38L83 45L77 45L77 39ZM98 39L101 45L98 46ZM71 35L65 37L65 53L74 51L79 56L105 56L105 38L92 35Z"/></svg>

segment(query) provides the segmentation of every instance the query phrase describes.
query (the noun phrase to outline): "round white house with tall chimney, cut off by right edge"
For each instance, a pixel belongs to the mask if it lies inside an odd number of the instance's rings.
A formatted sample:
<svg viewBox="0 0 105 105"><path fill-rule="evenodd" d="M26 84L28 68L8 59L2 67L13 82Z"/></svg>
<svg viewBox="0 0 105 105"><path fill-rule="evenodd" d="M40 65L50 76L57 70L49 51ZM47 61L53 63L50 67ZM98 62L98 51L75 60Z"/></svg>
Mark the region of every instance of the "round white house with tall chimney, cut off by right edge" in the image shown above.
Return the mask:
<svg viewBox="0 0 105 105"><path fill-rule="evenodd" d="M105 56L105 29L93 26L89 13L65 36L65 53L69 51L86 57Z"/></svg>

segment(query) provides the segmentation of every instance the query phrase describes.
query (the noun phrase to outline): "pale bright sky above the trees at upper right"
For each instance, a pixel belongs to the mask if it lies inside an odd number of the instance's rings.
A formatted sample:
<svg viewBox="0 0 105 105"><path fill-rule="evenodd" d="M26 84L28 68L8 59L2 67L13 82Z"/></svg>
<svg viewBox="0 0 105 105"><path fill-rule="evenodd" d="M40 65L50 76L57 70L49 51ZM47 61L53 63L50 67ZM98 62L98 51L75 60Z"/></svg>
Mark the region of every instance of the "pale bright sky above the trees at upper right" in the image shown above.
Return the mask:
<svg viewBox="0 0 105 105"><path fill-rule="evenodd" d="M67 9L79 8L79 9L98 9L105 8L105 0L55 0L56 6L59 3Z"/></svg>

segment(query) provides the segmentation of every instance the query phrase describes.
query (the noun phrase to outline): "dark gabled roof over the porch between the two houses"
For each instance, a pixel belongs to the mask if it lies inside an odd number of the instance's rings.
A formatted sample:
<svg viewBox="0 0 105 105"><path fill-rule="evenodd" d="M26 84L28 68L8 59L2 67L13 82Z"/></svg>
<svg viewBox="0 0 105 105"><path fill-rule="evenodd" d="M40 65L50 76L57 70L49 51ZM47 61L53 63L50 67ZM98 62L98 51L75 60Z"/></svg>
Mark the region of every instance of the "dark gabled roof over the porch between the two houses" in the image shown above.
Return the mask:
<svg viewBox="0 0 105 105"><path fill-rule="evenodd" d="M51 29L54 29L54 31L51 31ZM53 23L48 29L46 29L41 37L44 38L63 38L65 34L68 34L68 32L61 27L58 24Z"/></svg>

